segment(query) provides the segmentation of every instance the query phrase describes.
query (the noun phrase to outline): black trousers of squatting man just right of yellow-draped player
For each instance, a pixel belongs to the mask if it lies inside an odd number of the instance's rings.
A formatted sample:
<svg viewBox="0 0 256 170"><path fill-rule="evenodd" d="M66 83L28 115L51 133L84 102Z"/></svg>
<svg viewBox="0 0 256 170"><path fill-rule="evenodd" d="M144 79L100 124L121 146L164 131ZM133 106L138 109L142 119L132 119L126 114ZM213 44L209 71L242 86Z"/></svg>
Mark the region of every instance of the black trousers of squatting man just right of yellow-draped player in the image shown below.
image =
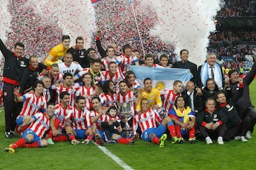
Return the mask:
<svg viewBox="0 0 256 170"><path fill-rule="evenodd" d="M224 137L224 135L225 135L225 124L220 125L215 130L208 130L207 128L200 125L199 130L200 130L201 134L203 135L204 139L206 139L206 137L210 137L212 139L215 139L217 137Z"/></svg>

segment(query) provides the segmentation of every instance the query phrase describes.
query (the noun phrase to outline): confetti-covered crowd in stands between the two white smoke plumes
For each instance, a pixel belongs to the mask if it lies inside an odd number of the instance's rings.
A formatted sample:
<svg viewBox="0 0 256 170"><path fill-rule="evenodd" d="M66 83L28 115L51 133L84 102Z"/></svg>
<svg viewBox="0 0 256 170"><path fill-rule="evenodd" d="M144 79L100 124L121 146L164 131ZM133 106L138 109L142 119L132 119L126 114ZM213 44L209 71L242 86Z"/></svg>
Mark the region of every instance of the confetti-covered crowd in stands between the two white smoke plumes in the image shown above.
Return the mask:
<svg viewBox="0 0 256 170"><path fill-rule="evenodd" d="M145 52L158 56L164 52L168 55L174 52L173 46L149 35L149 31L154 26L156 13L151 10L150 6L145 6L142 10L142 8L136 8L136 2L134 3L134 11ZM100 3L94 4L94 8L97 26L103 28L102 42L105 45L114 42L118 47L122 47L122 45L129 43L132 45L133 50L142 52L137 26L134 22L134 14L132 13L129 1L100 1ZM110 15L102 11L108 11Z"/></svg>

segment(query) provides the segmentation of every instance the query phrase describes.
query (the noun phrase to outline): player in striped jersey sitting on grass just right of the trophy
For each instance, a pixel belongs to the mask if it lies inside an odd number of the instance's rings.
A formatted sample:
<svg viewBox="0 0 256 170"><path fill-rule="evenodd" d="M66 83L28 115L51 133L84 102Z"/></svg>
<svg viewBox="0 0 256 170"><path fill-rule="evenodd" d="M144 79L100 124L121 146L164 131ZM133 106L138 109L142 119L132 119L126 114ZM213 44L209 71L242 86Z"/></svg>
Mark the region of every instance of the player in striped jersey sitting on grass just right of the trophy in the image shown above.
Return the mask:
<svg viewBox="0 0 256 170"><path fill-rule="evenodd" d="M159 113L149 108L149 100L146 98L142 98L141 108L142 110L134 116L134 133L136 133L139 125L142 129L142 140L164 147L164 142L167 139L166 128L170 132L175 132L174 123L169 117L161 120ZM159 124L158 127L156 123Z"/></svg>

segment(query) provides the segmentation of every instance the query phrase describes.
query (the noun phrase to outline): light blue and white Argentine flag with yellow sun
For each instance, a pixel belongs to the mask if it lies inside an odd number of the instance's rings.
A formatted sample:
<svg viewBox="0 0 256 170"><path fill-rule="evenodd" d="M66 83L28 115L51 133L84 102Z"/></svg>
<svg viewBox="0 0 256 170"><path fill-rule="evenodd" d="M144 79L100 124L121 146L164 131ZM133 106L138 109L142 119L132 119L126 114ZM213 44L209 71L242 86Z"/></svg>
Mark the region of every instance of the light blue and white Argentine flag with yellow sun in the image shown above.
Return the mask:
<svg viewBox="0 0 256 170"><path fill-rule="evenodd" d="M193 77L189 69L174 69L164 67L143 67L129 66L129 70L134 72L136 79L141 86L146 77L153 81L153 86L159 91L172 90L175 80L180 80L183 86Z"/></svg>

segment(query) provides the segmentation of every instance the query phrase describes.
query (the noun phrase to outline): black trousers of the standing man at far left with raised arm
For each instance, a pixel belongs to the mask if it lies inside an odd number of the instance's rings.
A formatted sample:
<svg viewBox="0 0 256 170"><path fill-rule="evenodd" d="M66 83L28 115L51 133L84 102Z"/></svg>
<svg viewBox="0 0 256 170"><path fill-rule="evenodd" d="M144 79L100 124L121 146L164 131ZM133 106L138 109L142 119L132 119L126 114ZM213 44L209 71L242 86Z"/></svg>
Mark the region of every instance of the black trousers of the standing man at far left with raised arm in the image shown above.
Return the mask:
<svg viewBox="0 0 256 170"><path fill-rule="evenodd" d="M13 84L4 83L3 101L6 132L14 131L16 128L16 118L21 112L22 102L14 101L14 88L18 87Z"/></svg>

